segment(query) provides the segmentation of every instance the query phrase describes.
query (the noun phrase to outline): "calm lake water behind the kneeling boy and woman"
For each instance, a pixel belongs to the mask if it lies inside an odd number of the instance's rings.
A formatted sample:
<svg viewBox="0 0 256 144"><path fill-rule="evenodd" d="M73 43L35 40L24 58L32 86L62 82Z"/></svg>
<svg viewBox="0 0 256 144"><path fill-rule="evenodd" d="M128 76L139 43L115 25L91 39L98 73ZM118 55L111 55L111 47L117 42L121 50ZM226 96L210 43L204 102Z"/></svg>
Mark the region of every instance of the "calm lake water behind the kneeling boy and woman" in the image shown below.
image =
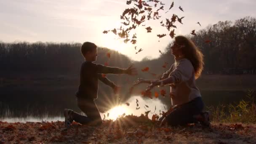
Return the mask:
<svg viewBox="0 0 256 144"><path fill-rule="evenodd" d="M206 106L217 106L218 104L230 104L237 103L242 99L246 98L245 91L201 91L203 101ZM26 96L26 97L25 97ZM76 112L80 112L77 108L75 99L67 99L65 96L55 97L51 99L51 96L30 96L28 94L16 96L3 97L0 100L0 121L7 121L10 123L15 122L41 122L43 121L64 121L63 109L69 108L74 109ZM65 101L64 101L65 98ZM136 99L138 100L138 109ZM125 104L129 103L129 106ZM102 119L116 119L118 116L123 115L136 115L139 116L144 114L146 111L149 112L149 117L153 114L159 114L160 111L167 111L171 105L171 101L168 98L149 99L141 96L131 96L122 104L116 104L106 112L101 112ZM96 102L97 103L97 102ZM146 106L147 105L147 106ZM137 109L136 109L137 108ZM109 113L109 115L108 115ZM108 116L107 116L108 115Z"/></svg>

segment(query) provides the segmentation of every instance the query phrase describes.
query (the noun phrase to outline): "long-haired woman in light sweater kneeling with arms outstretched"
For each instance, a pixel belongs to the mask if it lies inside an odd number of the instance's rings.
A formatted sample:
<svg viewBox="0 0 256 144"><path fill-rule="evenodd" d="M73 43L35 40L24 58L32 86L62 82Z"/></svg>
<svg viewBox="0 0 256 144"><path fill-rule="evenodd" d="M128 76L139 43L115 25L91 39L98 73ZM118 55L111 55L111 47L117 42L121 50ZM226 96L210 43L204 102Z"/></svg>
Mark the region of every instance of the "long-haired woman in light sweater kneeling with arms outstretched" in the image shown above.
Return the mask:
<svg viewBox="0 0 256 144"><path fill-rule="evenodd" d="M139 83L151 83L146 91L157 85L171 86L171 102L175 109L166 115L162 124L185 125L200 121L203 125L210 125L209 114L203 111L203 101L195 80L200 77L203 70L203 54L195 44L184 36L176 36L171 45L175 63L163 74L160 80L143 80Z"/></svg>

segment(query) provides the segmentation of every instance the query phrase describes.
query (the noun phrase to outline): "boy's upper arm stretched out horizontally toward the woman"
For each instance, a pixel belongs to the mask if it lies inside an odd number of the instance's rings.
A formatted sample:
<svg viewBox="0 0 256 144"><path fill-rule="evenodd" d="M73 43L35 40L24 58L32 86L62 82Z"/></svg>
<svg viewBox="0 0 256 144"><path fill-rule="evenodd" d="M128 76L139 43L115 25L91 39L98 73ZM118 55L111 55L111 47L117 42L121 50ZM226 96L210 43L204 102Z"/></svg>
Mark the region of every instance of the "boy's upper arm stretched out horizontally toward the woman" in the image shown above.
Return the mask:
<svg viewBox="0 0 256 144"><path fill-rule="evenodd" d="M118 67L107 67L101 64L97 64L98 73L101 74L127 74L127 75L137 75L137 70L130 66L127 69L120 69Z"/></svg>

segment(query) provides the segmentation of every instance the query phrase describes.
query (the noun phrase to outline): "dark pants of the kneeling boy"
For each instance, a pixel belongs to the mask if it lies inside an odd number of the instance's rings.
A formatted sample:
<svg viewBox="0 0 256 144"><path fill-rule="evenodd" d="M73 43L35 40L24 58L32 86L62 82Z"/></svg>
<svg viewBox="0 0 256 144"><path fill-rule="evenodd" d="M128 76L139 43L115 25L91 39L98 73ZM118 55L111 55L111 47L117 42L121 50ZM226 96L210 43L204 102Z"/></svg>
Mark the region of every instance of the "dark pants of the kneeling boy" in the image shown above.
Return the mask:
<svg viewBox="0 0 256 144"><path fill-rule="evenodd" d="M77 112L73 112L72 118L73 120L75 120L75 122L90 125L98 125L102 123L99 109L93 99L77 98L77 106L87 116L80 115Z"/></svg>

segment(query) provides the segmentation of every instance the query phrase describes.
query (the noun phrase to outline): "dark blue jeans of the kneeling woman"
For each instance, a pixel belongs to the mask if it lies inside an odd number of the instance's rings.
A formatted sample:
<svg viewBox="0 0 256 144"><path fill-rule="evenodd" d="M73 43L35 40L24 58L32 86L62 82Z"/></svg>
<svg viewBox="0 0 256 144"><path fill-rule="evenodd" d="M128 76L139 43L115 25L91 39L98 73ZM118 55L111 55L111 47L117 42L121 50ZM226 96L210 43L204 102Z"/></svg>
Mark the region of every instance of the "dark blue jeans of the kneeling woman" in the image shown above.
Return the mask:
<svg viewBox="0 0 256 144"><path fill-rule="evenodd" d="M193 117L203 111L202 97L197 97L188 103L179 105L169 115L166 116L167 123L172 126L186 125L188 123L196 123Z"/></svg>

